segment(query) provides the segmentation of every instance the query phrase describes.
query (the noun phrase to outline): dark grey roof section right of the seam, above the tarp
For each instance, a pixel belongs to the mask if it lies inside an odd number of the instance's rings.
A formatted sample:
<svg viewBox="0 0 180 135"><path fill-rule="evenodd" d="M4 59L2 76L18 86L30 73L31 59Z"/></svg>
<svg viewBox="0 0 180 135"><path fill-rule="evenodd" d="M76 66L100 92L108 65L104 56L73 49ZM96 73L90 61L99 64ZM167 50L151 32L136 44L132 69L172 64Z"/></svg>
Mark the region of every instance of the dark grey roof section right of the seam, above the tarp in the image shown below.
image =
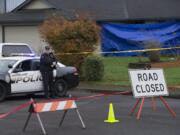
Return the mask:
<svg viewBox="0 0 180 135"><path fill-rule="evenodd" d="M129 18L180 18L180 0L126 0Z"/></svg>

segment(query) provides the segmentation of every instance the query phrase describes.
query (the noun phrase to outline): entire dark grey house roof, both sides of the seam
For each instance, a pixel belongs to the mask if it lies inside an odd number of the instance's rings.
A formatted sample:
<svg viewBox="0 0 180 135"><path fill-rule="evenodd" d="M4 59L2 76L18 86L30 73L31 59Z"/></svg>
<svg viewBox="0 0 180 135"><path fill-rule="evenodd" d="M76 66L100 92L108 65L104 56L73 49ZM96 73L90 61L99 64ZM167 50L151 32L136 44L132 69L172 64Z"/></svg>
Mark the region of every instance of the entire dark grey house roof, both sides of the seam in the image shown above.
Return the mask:
<svg viewBox="0 0 180 135"><path fill-rule="evenodd" d="M26 0L15 10L34 0ZM180 17L179 0L45 0L64 12L85 12L92 16L121 18Z"/></svg>

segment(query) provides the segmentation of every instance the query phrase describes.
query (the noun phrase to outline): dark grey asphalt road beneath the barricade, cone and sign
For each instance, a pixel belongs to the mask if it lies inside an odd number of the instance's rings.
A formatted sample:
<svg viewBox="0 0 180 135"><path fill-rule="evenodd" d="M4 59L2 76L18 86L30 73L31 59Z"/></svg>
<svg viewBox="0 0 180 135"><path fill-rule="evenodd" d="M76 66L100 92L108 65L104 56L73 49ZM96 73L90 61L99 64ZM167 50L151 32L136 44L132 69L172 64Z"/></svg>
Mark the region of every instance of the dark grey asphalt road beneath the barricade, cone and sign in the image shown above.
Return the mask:
<svg viewBox="0 0 180 135"><path fill-rule="evenodd" d="M73 92L73 96L92 95L86 92ZM12 97L0 104L1 112L25 103L28 97ZM42 100L36 97L36 100ZM91 100L81 100L77 104L87 128L82 129L81 123L75 111L69 111L62 125L58 123L62 112L42 113L41 118L49 135L179 135L180 134L180 100L167 99L176 111L177 117L172 118L161 102L157 101L157 111L153 112L148 99L145 100L141 120L128 116L135 103L131 96L109 96ZM112 102L115 115L120 119L119 123L107 124L103 121L107 118L108 105ZM27 108L0 120L1 135L41 135L41 129L35 116L32 117L27 131L22 133L22 127L27 118Z"/></svg>

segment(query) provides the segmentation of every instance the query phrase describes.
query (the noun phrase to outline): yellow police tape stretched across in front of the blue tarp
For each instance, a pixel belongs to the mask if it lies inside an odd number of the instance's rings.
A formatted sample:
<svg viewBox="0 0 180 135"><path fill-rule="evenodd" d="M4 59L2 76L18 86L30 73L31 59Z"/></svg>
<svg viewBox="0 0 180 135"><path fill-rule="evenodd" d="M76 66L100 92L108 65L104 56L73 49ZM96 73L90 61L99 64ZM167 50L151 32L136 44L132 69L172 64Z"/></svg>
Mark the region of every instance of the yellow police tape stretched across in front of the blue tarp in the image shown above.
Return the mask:
<svg viewBox="0 0 180 135"><path fill-rule="evenodd" d="M87 55L87 54L118 54L118 53L133 53L133 52L151 52L151 51L163 51L163 50L173 50L180 49L178 47L168 47L168 48L152 48L152 49L142 49L142 50L126 50L126 51L111 51L111 52L74 52L74 53L56 53L55 55Z"/></svg>

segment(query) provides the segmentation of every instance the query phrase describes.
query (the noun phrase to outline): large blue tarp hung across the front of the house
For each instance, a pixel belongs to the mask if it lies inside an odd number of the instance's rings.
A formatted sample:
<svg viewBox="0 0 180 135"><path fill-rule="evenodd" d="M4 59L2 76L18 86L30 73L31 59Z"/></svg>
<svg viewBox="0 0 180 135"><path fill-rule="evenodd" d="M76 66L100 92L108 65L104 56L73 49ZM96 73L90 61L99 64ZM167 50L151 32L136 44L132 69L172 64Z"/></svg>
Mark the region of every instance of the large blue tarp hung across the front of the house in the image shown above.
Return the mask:
<svg viewBox="0 0 180 135"><path fill-rule="evenodd" d="M102 52L146 49L146 42L161 43L160 47L180 45L180 22L171 21L151 24L103 23L101 32ZM177 53L177 50L163 51L163 54ZM136 56L139 53L105 54L111 56Z"/></svg>

